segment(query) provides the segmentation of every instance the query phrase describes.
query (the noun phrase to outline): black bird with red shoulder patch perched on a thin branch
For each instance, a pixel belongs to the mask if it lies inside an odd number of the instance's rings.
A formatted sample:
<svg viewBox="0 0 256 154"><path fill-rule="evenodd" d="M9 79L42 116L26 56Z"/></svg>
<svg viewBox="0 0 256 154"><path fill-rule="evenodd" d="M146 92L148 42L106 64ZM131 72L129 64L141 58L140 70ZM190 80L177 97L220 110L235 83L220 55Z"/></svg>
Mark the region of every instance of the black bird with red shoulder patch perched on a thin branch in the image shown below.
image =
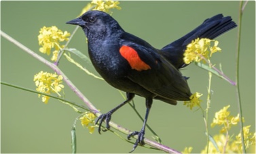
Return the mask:
<svg viewBox="0 0 256 154"><path fill-rule="evenodd" d="M139 95L146 99L146 114L141 131L128 135L138 135L132 151L138 144L143 145L145 124L153 99L176 105L177 101L189 101L191 92L187 78L181 75L186 46L196 38L213 39L223 32L236 27L229 16L222 14L206 19L200 26L177 41L156 49L143 39L125 32L109 14L103 11L88 11L79 18L67 22L81 26L88 38L88 52L96 71L111 86L126 92L126 101L102 114L99 122L100 133L103 121L109 129L111 115L117 109Z"/></svg>

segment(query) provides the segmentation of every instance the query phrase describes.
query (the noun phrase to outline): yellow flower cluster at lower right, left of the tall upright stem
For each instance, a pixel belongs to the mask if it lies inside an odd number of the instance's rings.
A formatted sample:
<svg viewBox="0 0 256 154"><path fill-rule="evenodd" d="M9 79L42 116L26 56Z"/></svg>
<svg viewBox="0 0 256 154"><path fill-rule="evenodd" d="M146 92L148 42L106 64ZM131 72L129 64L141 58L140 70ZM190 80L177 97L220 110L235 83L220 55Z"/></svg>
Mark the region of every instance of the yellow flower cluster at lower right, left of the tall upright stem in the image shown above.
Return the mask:
<svg viewBox="0 0 256 154"><path fill-rule="evenodd" d="M217 111L215 113L215 118L213 118L211 126L223 126L220 132L227 132L228 130L230 130L232 125L236 125L240 121L239 114L236 115L236 117L230 115L230 111L227 111L229 107L230 105L227 105L226 107L223 107L223 109Z"/></svg>

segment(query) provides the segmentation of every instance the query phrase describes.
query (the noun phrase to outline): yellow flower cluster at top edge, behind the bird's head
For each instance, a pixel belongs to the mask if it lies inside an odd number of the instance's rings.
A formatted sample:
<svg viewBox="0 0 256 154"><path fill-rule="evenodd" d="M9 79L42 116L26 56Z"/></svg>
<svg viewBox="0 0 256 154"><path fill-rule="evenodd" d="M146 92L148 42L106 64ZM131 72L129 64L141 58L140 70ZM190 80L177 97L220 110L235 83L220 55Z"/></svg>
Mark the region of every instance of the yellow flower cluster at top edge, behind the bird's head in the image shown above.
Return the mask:
<svg viewBox="0 0 256 154"><path fill-rule="evenodd" d="M86 11L89 11L90 9L92 10L98 10L98 11L105 11L108 14L111 14L110 9L121 9L119 1L109 1L109 0L93 0L91 3L88 3L84 9L82 9L81 16L82 14L86 13Z"/></svg>

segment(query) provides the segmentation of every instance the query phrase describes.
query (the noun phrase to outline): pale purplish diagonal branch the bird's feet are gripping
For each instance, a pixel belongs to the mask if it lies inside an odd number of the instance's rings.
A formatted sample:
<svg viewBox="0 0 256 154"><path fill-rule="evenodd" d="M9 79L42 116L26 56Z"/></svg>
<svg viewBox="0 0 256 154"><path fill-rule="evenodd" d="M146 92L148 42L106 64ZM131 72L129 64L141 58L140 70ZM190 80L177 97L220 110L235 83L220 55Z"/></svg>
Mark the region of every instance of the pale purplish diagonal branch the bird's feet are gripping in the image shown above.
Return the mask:
<svg viewBox="0 0 256 154"><path fill-rule="evenodd" d="M84 103L88 106L88 109L90 109L90 111L92 111L97 117L101 114L100 111L98 111L98 109L96 109L96 107L94 107L94 105L92 103L90 103L90 101L83 95L83 93L81 93L81 91L79 91L79 89L76 88L76 86L71 82L71 80L69 80L69 78L67 78L67 76L58 68L58 66L56 66L54 63L51 63L50 61L44 59L43 57L41 57L40 55L38 55L34 51L31 51L31 49L29 49L28 47L25 47L24 45L22 45L21 43L16 41L14 38L12 38L11 36L7 35L5 32L1 31L1 36L6 38L11 43L14 43L14 45L20 47L20 49L22 49L26 53L29 53L29 55L32 55L33 57L35 57L35 59L38 59L39 61L44 63L46 66L49 66L50 68L52 68L52 70L54 70L54 72L56 72L57 74L62 75L63 76L63 80L65 80L65 82L71 88L71 90L82 101L84 101ZM113 122L109 122L109 125L112 128L114 128L115 130L119 130L120 132L122 132L124 134L132 133L131 130L128 130L127 128L124 128L124 127L122 127L120 125L117 125L117 124L115 124ZM137 136L134 136L134 138L137 138ZM151 147L155 147L156 149L160 149L160 150L162 150L162 151L164 151L166 153L180 153L179 151L176 151L175 149L171 149L170 147L167 147L165 145L161 145L160 143L156 143L155 141L149 140L147 138L144 139L144 142L145 142L145 144L150 145Z"/></svg>

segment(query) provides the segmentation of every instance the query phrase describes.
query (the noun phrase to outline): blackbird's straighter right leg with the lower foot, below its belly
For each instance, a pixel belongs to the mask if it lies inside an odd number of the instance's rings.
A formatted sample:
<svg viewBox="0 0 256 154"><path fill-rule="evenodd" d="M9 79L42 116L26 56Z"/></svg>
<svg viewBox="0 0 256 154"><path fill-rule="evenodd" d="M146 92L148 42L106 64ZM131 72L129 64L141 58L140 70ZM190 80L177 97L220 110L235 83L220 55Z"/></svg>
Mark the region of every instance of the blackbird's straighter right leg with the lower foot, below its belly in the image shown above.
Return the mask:
<svg viewBox="0 0 256 154"><path fill-rule="evenodd" d="M146 115L145 115L145 119L144 119L144 122L143 122L143 126L141 128L141 131L140 132L134 131L134 132L132 132L131 134L129 134L127 136L128 140L130 140L131 136L138 135L138 139L136 139L136 142L133 145L132 151L134 151L139 144L140 145L145 145L145 143L143 141L144 140L144 134L145 134L145 126L147 124L147 118L149 116L149 111L150 111L152 103L153 103L153 99L151 99L151 98L146 99L147 110L146 110ZM130 151L130 153L132 153L132 151Z"/></svg>

